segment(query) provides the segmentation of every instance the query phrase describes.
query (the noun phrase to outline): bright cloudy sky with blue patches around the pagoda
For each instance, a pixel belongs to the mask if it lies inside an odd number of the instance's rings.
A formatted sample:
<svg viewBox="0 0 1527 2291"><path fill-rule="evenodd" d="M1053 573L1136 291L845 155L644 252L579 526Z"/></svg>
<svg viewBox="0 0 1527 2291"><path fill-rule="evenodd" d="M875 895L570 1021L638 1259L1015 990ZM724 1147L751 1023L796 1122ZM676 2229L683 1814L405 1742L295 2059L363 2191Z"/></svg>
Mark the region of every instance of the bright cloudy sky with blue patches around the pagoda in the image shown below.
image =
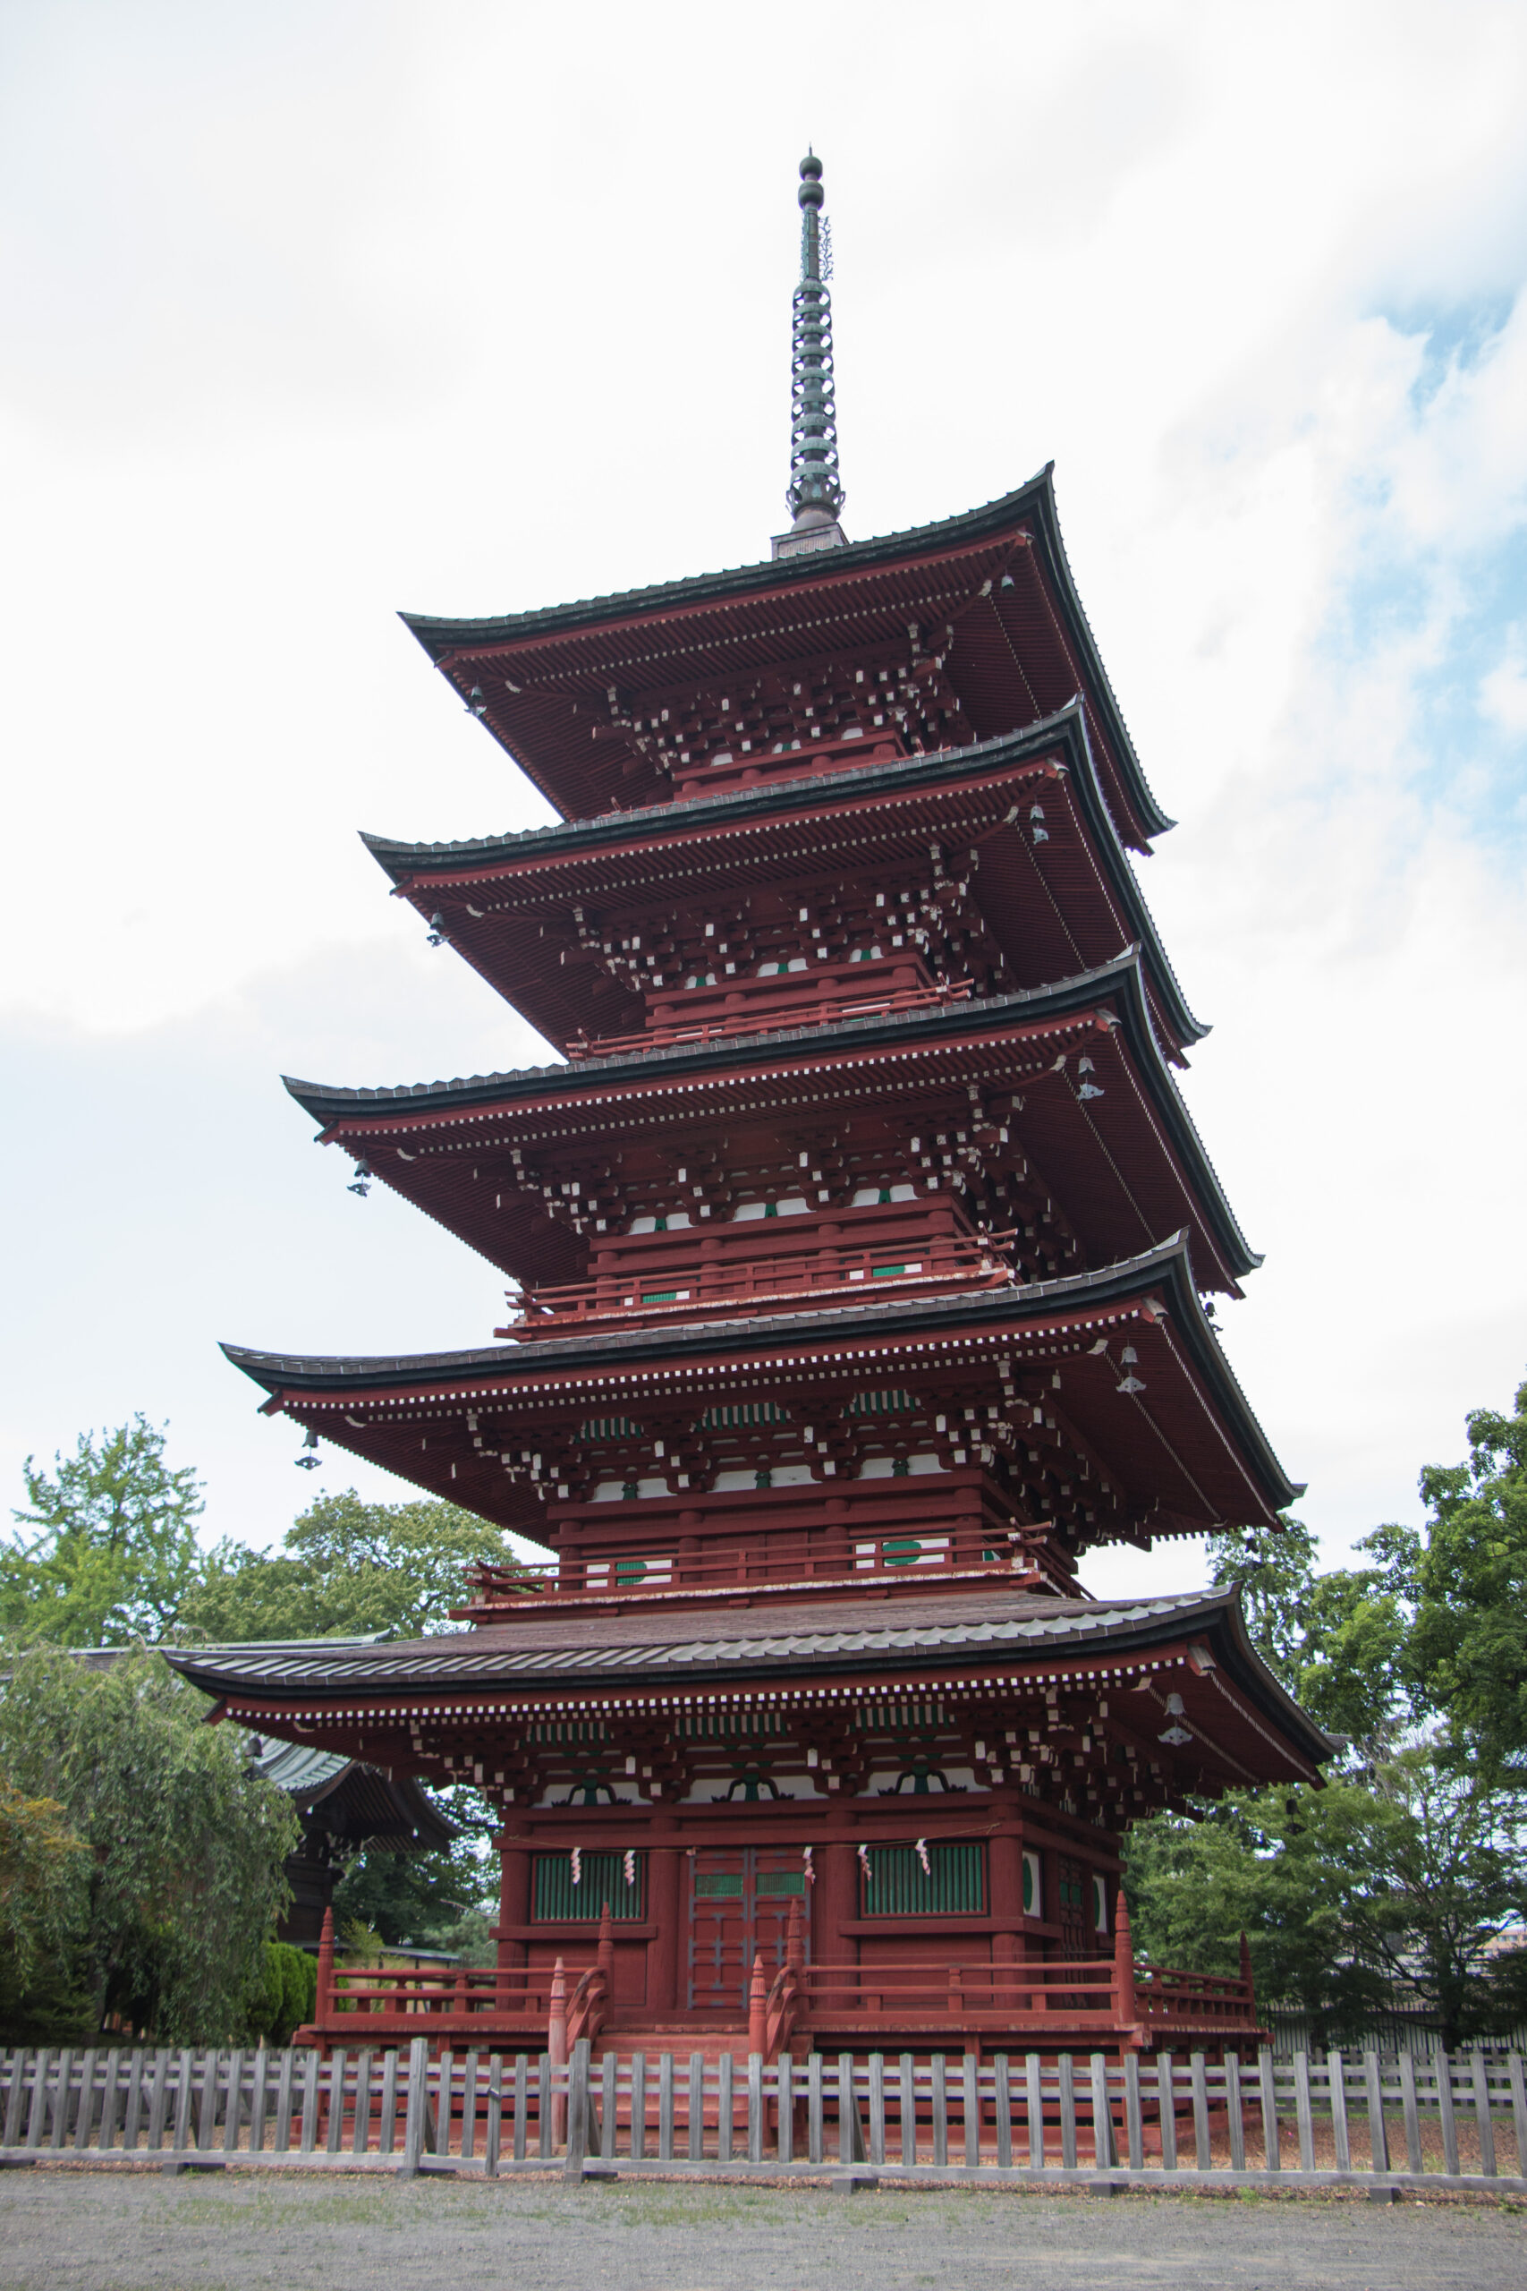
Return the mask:
<svg viewBox="0 0 1527 2291"><path fill-rule="evenodd" d="M547 818L396 614L767 554L813 144L845 529L1055 460L1232 1363L1330 1562L1419 1521L1527 1372L1525 115L1493 0L7 0L0 1503L137 1409L208 1537L408 1494L217 1352L501 1310L279 1084L545 1056L357 841Z"/></svg>

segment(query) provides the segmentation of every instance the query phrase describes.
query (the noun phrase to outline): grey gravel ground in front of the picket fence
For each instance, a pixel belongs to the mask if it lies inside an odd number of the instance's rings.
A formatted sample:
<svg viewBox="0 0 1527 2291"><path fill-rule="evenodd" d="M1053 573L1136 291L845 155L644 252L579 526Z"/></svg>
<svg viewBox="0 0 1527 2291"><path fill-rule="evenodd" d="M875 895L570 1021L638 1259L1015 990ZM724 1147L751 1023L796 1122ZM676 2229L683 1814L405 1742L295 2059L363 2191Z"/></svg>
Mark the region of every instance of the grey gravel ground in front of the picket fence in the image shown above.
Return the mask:
<svg viewBox="0 0 1527 2291"><path fill-rule="evenodd" d="M1520 2291L1527 2209L1458 2199L0 2176L0 2282L80 2291Z"/></svg>

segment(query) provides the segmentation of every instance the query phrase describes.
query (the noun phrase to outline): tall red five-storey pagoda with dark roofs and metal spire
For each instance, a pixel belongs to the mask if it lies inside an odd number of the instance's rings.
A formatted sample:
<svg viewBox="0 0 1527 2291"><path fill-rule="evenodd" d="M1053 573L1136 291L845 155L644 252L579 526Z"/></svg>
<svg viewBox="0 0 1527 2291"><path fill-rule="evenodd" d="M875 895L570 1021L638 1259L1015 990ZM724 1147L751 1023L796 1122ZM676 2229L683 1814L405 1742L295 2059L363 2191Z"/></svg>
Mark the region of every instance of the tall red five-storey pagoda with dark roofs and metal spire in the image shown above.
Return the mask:
<svg viewBox="0 0 1527 2291"><path fill-rule="evenodd" d="M444 2044L545 2044L559 1961L604 2046L1245 2044L1245 1973L1136 1966L1119 1840L1330 1743L1234 1592L1078 1581L1296 1494L1213 1324L1259 1260L1133 873L1172 822L1049 470L845 538L817 158L799 202L769 559L408 616L559 825L366 843L556 1061L288 1091L506 1320L227 1347L309 1448L549 1562L483 1567L451 1636L179 1661L261 1737L499 1810ZM417 2034L414 1977L371 1979L369 2041ZM325 1959L325 2041L348 2002Z"/></svg>

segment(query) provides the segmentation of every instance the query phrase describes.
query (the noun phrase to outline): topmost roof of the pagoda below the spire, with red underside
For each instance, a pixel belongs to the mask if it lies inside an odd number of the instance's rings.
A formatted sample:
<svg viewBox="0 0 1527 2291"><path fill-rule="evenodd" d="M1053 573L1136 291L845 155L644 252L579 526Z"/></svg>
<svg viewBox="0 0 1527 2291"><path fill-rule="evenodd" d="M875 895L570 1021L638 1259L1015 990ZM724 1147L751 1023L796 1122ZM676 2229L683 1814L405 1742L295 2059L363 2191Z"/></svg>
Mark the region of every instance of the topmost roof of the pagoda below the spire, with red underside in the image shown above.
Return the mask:
<svg viewBox="0 0 1527 2291"><path fill-rule="evenodd" d="M563 818L776 777L824 742L968 747L1081 696L1131 850L1156 804L1097 655L1051 467L1016 493L877 541L485 621L403 614Z"/></svg>

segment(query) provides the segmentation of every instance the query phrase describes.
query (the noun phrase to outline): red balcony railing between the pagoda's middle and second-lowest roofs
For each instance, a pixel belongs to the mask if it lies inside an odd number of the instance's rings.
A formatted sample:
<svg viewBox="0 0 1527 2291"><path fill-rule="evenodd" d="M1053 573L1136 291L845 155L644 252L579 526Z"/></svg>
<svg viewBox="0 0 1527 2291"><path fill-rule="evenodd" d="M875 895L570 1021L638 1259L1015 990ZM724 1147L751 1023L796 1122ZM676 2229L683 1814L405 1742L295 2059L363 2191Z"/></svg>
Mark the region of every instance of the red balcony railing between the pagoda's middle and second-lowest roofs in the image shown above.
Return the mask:
<svg viewBox="0 0 1527 2291"><path fill-rule="evenodd" d="M648 1274L611 1272L595 1281L511 1292L520 1317L495 1336L563 1336L591 1322L696 1320L712 1313L799 1304L801 1297L884 1297L904 1290L1005 1288L1016 1281L1016 1233L957 1239L881 1242L877 1249L824 1244L778 1258L691 1258Z"/></svg>

